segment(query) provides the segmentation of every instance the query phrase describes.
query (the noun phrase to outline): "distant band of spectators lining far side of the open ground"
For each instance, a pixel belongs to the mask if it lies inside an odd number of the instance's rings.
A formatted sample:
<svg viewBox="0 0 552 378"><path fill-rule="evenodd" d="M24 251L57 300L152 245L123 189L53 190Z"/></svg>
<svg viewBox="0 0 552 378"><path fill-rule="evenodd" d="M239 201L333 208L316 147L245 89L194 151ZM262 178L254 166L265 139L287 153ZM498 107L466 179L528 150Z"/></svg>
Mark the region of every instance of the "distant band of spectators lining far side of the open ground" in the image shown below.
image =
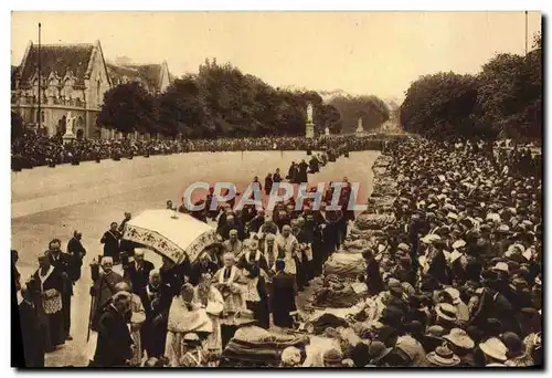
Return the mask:
<svg viewBox="0 0 552 378"><path fill-rule="evenodd" d="M78 165L81 161L103 159L131 159L135 156L185 154L193 151L244 150L316 150L347 143L350 150L380 149L382 136L349 135L305 137L214 138L214 139L73 139L61 136L26 133L12 140L12 169L30 169L39 166L55 167L60 164Z"/></svg>

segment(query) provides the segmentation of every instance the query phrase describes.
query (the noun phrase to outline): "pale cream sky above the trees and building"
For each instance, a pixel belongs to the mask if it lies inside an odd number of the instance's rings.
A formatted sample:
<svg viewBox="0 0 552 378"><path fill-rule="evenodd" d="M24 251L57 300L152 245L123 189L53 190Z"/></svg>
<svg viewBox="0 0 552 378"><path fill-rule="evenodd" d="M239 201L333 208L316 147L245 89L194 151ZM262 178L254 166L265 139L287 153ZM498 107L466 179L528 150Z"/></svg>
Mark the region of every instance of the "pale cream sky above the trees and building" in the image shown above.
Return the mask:
<svg viewBox="0 0 552 378"><path fill-rule="evenodd" d="M498 52L524 53L524 12L13 12L11 63L29 41L92 43L104 56L167 61L176 76L206 57L273 86L404 98L418 76L477 73ZM529 12L529 48L541 30Z"/></svg>

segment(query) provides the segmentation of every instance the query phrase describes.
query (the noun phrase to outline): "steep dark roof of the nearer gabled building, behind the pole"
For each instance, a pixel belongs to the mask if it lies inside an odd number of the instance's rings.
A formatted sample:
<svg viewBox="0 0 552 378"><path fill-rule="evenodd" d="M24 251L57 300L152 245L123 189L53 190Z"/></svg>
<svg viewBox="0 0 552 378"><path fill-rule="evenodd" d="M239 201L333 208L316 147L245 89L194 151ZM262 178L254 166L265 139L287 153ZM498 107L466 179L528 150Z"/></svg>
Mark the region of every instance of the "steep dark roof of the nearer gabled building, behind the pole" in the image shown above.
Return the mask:
<svg viewBox="0 0 552 378"><path fill-rule="evenodd" d="M63 77L71 72L76 85L84 85L88 72L88 64L94 50L92 43L79 44L43 44L41 45L41 75L47 77L55 72ZM39 65L39 49L31 44L29 53L22 62L21 82L26 84L32 80Z"/></svg>

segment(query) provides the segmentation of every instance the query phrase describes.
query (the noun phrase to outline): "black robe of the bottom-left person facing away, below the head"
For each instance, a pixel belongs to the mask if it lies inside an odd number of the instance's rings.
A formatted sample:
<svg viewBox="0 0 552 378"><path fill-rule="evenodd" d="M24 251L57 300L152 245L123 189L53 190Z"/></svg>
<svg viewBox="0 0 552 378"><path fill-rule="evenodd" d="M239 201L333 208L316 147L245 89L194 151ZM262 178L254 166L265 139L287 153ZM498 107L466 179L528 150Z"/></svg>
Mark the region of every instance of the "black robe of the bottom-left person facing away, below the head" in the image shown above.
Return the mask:
<svg viewBox="0 0 552 378"><path fill-rule="evenodd" d="M98 342L94 355L96 367L120 367L132 357L132 345L125 317L108 306L98 322Z"/></svg>

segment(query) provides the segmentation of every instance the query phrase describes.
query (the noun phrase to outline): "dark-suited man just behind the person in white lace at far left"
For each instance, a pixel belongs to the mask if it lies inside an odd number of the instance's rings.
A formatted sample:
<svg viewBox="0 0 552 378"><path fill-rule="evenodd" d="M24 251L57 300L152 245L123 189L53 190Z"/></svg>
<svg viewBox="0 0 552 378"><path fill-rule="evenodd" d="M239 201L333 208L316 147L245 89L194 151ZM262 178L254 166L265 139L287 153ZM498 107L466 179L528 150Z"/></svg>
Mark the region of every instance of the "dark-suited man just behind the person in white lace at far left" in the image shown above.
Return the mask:
<svg viewBox="0 0 552 378"><path fill-rule="evenodd" d="M66 340L72 340L71 337L71 297L73 296L73 284L75 277L75 266L73 256L64 253L61 250L62 242L60 239L53 239L49 244L49 250L45 255L50 260L50 264L54 266L62 275L62 318L63 318L63 337Z"/></svg>

